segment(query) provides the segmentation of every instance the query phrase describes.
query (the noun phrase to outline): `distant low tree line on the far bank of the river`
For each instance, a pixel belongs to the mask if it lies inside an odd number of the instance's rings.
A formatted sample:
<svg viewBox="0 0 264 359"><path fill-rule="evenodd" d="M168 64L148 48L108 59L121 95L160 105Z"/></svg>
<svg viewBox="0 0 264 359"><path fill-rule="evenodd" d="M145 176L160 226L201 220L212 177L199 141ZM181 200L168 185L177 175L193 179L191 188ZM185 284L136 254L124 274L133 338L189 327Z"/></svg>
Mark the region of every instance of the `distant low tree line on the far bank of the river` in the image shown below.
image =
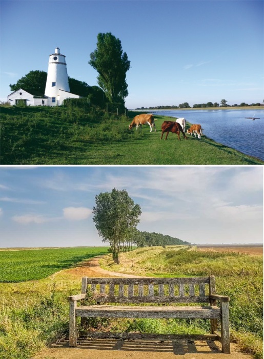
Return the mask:
<svg viewBox="0 0 264 359"><path fill-rule="evenodd" d="M255 104L246 104L245 102L242 102L240 105L234 104L234 105L228 105L227 101L225 99L222 99L220 104L215 102L214 104L212 102L208 102L207 104L194 104L193 107L191 107L188 102L185 102L183 104L176 105L166 105L166 106L150 106L150 107L137 107L136 110L166 110L166 109L181 109L181 108L210 108L210 107L247 107L247 106L261 106L260 103Z"/></svg>

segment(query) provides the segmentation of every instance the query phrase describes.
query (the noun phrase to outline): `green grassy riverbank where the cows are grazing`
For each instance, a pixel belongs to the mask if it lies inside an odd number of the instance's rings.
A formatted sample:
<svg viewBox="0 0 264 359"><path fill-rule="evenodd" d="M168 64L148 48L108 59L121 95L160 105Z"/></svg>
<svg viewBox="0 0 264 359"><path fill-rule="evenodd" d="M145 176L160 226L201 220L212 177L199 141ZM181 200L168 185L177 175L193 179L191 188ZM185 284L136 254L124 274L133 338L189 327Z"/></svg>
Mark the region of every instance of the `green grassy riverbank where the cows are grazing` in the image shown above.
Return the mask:
<svg viewBox="0 0 264 359"><path fill-rule="evenodd" d="M202 136L178 141L172 133L160 141L157 132L129 131L130 117L110 116L96 109L63 107L1 107L2 165L261 165ZM173 121L175 118L173 119ZM187 124L187 128L190 124Z"/></svg>

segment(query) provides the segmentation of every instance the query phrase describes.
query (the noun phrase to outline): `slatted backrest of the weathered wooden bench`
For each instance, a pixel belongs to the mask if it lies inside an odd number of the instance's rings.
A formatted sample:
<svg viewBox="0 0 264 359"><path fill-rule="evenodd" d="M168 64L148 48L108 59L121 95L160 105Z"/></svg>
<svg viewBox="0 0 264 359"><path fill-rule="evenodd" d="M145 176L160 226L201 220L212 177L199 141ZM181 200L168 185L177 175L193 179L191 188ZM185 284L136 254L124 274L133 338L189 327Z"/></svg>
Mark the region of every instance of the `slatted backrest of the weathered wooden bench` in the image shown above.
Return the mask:
<svg viewBox="0 0 264 359"><path fill-rule="evenodd" d="M206 303L215 294L215 277L83 277L82 293L87 290L97 303Z"/></svg>

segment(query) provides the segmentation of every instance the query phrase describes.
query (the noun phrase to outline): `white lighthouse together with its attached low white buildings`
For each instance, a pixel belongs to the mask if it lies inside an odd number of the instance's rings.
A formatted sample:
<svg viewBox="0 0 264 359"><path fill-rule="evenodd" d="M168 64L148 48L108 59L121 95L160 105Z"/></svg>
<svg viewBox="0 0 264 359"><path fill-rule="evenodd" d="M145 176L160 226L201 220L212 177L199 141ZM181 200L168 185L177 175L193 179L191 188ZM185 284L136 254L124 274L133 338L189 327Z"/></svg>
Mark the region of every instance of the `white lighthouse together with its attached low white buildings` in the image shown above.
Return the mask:
<svg viewBox="0 0 264 359"><path fill-rule="evenodd" d="M31 106L59 106L63 105L66 98L80 98L70 92L69 78L65 62L65 55L60 53L59 48L49 56L48 75L45 94L36 96L23 89L19 89L8 96L10 105L24 102Z"/></svg>

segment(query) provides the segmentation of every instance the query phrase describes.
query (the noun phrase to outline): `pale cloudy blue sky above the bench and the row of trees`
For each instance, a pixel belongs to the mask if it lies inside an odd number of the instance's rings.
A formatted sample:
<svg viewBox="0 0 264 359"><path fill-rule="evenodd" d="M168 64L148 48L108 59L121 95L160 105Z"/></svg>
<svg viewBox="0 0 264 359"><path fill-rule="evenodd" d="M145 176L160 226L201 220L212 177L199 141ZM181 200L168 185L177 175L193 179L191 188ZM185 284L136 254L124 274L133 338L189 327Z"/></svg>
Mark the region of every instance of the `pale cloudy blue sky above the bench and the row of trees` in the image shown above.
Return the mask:
<svg viewBox="0 0 264 359"><path fill-rule="evenodd" d="M126 189L138 229L201 243L261 243L262 167L1 167L0 247L102 245L94 198Z"/></svg>

